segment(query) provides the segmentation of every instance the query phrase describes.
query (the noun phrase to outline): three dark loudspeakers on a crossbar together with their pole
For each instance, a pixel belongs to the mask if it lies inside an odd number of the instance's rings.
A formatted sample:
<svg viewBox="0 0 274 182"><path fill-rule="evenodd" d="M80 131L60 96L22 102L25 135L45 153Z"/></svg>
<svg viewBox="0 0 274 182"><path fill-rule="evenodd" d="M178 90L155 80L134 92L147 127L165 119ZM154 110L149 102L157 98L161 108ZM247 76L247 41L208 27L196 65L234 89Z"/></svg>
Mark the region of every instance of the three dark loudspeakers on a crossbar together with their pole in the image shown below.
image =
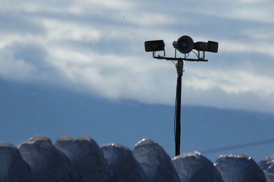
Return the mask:
<svg viewBox="0 0 274 182"><path fill-rule="evenodd" d="M181 93L182 93L182 76L184 71L184 61L208 61L205 59L205 52L218 52L218 42L193 42L188 35L179 37L177 41L173 41L175 48L175 57L165 57L164 40L151 40L145 42L145 51L153 52L153 58L166 59L169 61L177 61L177 88L176 88L176 106L175 106L175 155L180 153L181 143ZM197 53L193 51L197 50ZM177 57L177 50L184 54L184 57ZM155 52L162 51L163 55L155 55ZM189 53L193 52L197 59L189 59ZM200 52L203 52L201 56Z"/></svg>

